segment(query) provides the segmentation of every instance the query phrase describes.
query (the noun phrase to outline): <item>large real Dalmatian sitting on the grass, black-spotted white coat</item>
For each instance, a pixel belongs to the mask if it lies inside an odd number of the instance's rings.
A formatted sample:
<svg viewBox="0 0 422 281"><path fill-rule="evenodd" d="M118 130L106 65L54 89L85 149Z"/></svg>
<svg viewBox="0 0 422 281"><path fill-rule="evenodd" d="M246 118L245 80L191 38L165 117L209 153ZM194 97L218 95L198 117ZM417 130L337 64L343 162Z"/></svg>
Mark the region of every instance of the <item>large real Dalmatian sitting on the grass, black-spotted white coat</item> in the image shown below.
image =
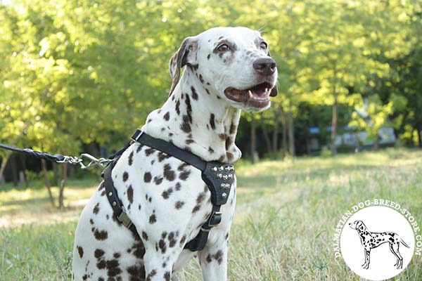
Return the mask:
<svg viewBox="0 0 422 281"><path fill-rule="evenodd" d="M181 70L184 68L184 72ZM184 39L170 60L170 96L142 130L205 161L233 163L241 110L259 112L276 96L276 63L260 32L215 27ZM210 190L195 167L146 145L132 143L112 171L122 208L139 236L117 221L104 184L82 211L75 233L72 280L177 280L193 256L203 280L227 280L229 231L236 179L222 221L205 248L184 249L211 214Z"/></svg>

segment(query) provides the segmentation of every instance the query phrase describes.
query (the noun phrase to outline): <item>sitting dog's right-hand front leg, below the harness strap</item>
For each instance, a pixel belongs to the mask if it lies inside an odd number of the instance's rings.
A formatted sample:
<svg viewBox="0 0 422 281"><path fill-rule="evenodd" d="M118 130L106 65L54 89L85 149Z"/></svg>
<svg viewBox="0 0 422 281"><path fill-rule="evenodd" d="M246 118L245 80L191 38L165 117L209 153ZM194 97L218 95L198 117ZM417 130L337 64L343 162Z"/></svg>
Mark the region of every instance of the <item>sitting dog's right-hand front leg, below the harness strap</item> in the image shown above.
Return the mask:
<svg viewBox="0 0 422 281"><path fill-rule="evenodd" d="M207 245L198 253L204 281L227 280L227 243Z"/></svg>

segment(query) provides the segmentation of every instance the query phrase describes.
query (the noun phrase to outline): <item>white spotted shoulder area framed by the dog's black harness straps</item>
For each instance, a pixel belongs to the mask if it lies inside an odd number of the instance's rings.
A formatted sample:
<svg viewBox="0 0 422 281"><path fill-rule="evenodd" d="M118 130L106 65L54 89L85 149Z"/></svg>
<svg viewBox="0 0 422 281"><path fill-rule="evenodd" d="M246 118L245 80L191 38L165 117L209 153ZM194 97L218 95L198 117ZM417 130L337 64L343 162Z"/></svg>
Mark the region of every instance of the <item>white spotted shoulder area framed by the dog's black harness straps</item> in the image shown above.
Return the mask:
<svg viewBox="0 0 422 281"><path fill-rule="evenodd" d="M112 176L138 233L174 233L175 240L188 242L210 216L210 190L200 171L163 152L136 143Z"/></svg>

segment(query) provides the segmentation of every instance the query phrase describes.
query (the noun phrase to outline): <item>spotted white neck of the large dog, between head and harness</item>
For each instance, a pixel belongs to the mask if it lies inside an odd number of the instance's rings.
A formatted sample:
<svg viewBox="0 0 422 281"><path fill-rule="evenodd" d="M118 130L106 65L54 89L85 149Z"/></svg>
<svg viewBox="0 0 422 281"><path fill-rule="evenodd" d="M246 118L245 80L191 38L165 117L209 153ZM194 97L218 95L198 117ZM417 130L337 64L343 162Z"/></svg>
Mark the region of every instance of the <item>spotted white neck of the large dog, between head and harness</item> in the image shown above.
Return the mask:
<svg viewBox="0 0 422 281"><path fill-rule="evenodd" d="M142 130L205 161L235 162L241 157L234 143L241 110L205 87L186 67L170 98L148 115Z"/></svg>

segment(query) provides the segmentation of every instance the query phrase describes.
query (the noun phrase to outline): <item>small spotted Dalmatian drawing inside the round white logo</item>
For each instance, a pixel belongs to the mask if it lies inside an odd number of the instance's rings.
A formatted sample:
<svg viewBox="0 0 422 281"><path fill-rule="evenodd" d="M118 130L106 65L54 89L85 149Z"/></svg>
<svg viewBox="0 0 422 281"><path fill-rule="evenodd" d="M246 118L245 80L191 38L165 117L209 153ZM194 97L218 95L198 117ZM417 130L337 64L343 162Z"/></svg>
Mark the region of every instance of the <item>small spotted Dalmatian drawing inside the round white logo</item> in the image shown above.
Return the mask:
<svg viewBox="0 0 422 281"><path fill-rule="evenodd" d="M363 221L354 221L354 223L349 223L350 228L357 230L359 234L362 245L365 250L365 263L362 264L362 267L365 269L369 268L369 255L371 254L371 249L378 247L381 244L388 243L390 246L390 251L397 259L397 262L394 266L397 269L401 269L403 266L403 258L399 253L400 243L404 247L409 248L409 246L402 240L397 233L371 233L368 228L366 228Z"/></svg>

